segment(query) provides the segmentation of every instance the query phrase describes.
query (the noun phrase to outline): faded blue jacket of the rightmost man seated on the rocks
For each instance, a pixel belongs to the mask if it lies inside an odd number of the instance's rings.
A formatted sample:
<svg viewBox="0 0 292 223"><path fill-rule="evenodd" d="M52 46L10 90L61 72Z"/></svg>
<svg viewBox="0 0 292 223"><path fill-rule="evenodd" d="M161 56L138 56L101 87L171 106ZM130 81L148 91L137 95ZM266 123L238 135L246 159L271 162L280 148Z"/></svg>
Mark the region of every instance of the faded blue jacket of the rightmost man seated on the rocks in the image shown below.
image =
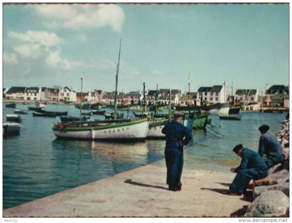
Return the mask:
<svg viewBox="0 0 292 223"><path fill-rule="evenodd" d="M266 132L260 136L258 154L261 157L263 157L263 154L267 154L267 158L270 158L284 155L285 153L277 137L270 132Z"/></svg>

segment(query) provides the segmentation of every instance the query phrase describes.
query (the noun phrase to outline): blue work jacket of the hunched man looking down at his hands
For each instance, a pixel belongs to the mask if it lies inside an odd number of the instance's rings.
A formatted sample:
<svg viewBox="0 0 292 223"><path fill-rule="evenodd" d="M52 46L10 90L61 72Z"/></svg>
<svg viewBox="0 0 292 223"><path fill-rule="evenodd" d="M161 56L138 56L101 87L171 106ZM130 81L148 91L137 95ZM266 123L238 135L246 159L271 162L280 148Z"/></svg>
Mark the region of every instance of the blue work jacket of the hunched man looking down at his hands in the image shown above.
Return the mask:
<svg viewBox="0 0 292 223"><path fill-rule="evenodd" d="M248 148L242 150L240 166L235 168L235 171L255 168L258 170L267 170L267 165L258 153Z"/></svg>

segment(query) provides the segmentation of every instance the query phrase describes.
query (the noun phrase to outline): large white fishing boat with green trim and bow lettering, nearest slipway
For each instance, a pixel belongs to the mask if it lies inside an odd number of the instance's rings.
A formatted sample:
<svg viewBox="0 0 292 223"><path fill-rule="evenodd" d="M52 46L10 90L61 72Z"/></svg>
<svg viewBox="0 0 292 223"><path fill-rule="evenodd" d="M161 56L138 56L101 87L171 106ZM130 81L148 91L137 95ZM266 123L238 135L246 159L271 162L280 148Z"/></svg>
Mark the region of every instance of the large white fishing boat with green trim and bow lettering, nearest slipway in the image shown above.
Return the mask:
<svg viewBox="0 0 292 223"><path fill-rule="evenodd" d="M67 139L144 141L148 125L147 118L69 122L55 125L53 131L58 138Z"/></svg>

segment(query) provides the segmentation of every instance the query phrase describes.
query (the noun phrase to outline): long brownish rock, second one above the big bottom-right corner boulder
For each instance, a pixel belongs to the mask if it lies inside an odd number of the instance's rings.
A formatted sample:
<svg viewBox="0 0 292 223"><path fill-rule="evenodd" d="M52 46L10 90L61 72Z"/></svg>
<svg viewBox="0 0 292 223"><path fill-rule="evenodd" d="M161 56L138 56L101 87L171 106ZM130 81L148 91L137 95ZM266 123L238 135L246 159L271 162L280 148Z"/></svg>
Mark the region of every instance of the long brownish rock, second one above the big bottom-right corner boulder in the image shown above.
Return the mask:
<svg viewBox="0 0 292 223"><path fill-rule="evenodd" d="M279 172L268 175L266 178L263 178L261 180L256 180L253 186L254 187L267 186L267 185L281 184L285 182L289 182L289 171L286 169L283 169Z"/></svg>

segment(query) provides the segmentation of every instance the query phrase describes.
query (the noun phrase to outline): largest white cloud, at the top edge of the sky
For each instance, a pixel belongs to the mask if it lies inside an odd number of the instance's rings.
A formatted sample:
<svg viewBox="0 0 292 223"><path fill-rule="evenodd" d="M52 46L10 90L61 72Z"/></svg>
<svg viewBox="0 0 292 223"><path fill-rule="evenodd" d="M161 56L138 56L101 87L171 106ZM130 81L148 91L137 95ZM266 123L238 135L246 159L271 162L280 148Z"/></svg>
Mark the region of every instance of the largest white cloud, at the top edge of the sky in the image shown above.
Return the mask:
<svg viewBox="0 0 292 223"><path fill-rule="evenodd" d="M121 31L125 18L123 9L116 4L41 4L34 5L34 10L46 19L46 25L69 29L111 26Z"/></svg>

